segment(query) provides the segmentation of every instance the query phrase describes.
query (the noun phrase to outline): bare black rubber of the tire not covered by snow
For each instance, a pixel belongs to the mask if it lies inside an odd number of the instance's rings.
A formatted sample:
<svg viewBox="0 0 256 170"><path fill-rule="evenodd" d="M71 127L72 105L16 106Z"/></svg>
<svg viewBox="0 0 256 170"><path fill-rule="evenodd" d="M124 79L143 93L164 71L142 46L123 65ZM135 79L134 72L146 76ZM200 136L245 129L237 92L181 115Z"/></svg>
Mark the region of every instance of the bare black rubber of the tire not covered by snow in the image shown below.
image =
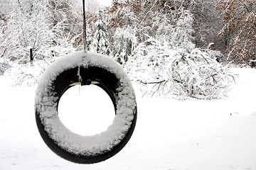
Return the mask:
<svg viewBox="0 0 256 170"><path fill-rule="evenodd" d="M49 88L53 89L55 91L55 96L58 97L58 102L60 100L60 97L70 88L70 85L78 82L78 69L80 70L80 75L82 77L82 85L89 84L90 81L97 82L97 86L100 86L106 93L110 96L112 103L114 105L115 112L117 112L117 88L119 86L119 79L117 79L117 76L109 72L107 69L101 68L101 67L74 67L67 70L64 70L53 81L52 86ZM89 83L88 83L89 82ZM85 103L86 105L86 103ZM57 107L58 108L58 107ZM57 109L58 110L58 109ZM41 134L41 137L43 138L43 141L48 145L48 147L55 152L55 154L58 154L63 159L67 159L70 162L75 162L78 164L94 164L97 162L105 161L106 159L109 159L110 157L113 157L114 154L117 154L129 141L130 137L132 136L132 133L135 128L137 120L137 106L135 106L134 109L134 118L132 120L132 125L130 125L129 130L127 131L124 138L110 151L104 152L102 154L97 154L93 156L86 156L86 155L80 155L80 154L73 154L72 152L69 152L67 149L63 149L58 145L55 140L53 140L50 135L48 135L48 132L45 130L45 126L42 123L42 120L40 118L40 113L36 109L36 124L38 126L38 130Z"/></svg>

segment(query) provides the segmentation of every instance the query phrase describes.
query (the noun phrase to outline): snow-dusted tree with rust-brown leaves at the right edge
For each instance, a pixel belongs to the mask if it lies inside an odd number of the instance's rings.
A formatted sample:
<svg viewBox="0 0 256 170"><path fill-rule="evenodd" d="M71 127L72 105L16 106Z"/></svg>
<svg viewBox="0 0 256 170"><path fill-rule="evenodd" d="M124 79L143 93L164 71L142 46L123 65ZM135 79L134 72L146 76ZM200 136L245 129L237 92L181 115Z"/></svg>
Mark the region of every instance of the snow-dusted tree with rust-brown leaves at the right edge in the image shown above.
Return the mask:
<svg viewBox="0 0 256 170"><path fill-rule="evenodd" d="M256 59L255 0L218 0L218 9L225 22L219 35L233 35L228 47L228 59L249 64Z"/></svg>

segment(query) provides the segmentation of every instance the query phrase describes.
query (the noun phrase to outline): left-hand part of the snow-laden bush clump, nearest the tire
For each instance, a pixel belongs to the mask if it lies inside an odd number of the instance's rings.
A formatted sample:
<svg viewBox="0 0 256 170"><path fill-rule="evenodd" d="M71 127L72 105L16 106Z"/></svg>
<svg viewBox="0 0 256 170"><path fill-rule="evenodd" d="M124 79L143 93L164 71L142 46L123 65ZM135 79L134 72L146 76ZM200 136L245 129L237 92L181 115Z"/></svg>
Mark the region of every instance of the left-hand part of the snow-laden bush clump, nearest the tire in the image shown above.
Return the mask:
<svg viewBox="0 0 256 170"><path fill-rule="evenodd" d="M161 75L164 74L162 66L168 55L167 49L166 43L149 38L132 50L132 55L123 66L134 81L144 84L156 81L156 79L161 79Z"/></svg>

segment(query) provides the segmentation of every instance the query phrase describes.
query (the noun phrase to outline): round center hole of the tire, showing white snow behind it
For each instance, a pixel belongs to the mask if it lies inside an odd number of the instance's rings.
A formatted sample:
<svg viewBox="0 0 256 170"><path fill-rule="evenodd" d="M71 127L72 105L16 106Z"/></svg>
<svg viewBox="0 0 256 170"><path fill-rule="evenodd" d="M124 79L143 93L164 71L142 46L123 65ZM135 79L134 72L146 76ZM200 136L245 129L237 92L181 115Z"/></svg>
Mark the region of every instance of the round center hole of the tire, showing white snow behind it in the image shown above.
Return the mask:
<svg viewBox="0 0 256 170"><path fill-rule="evenodd" d="M114 105L99 86L70 87L58 103L58 115L66 128L79 135L107 130L114 120Z"/></svg>

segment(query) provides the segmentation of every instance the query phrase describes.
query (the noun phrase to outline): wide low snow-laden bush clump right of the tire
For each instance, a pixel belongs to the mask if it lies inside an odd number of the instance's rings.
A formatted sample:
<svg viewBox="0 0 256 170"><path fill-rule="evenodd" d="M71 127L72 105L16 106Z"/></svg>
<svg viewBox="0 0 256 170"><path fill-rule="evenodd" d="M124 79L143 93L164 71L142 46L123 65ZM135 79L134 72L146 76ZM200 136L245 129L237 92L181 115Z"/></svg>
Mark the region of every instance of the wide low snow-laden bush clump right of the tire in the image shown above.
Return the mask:
<svg viewBox="0 0 256 170"><path fill-rule="evenodd" d="M138 45L126 66L132 79L139 82L143 96L221 98L235 81L235 74L215 60L219 52L170 50L166 43L150 43Z"/></svg>

